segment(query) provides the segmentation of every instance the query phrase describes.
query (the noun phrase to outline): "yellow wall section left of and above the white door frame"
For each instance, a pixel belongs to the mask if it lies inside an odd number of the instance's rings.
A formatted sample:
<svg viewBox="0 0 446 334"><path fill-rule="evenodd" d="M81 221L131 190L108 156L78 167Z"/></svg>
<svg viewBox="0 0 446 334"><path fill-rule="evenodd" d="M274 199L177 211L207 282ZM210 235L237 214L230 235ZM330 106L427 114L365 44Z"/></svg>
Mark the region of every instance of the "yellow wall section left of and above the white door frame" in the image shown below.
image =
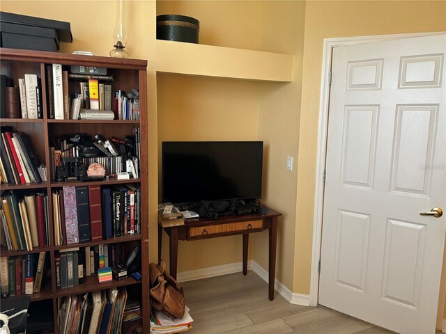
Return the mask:
<svg viewBox="0 0 446 334"><path fill-rule="evenodd" d="M445 1L307 1L294 292L309 294L323 39L445 30Z"/></svg>

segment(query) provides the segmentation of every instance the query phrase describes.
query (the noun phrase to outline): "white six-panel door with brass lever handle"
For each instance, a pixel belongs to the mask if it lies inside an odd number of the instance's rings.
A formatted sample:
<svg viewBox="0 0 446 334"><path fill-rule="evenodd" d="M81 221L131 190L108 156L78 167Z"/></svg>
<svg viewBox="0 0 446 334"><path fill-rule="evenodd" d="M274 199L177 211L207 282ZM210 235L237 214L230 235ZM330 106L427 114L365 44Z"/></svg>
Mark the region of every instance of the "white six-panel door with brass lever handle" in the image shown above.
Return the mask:
<svg viewBox="0 0 446 334"><path fill-rule="evenodd" d="M446 35L334 48L319 303L434 333L446 214Z"/></svg>

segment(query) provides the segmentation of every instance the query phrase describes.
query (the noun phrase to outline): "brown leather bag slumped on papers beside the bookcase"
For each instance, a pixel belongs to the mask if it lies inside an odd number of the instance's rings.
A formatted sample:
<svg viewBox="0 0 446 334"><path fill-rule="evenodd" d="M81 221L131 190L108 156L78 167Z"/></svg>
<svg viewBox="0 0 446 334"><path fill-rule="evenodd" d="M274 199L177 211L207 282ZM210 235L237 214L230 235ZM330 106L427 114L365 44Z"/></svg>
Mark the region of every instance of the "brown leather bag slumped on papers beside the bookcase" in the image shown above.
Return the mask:
<svg viewBox="0 0 446 334"><path fill-rule="evenodd" d="M148 264L151 281L151 304L153 308L172 319L183 319L185 300L181 287L164 269L164 261Z"/></svg>

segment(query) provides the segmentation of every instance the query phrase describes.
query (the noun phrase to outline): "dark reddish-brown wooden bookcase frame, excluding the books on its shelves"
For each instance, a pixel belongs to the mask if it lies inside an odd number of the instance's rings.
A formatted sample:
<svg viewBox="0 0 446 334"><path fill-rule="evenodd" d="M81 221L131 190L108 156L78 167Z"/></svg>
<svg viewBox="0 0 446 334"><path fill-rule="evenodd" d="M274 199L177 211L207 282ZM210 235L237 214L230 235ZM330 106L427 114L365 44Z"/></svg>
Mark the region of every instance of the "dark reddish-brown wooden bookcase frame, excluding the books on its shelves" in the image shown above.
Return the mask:
<svg viewBox="0 0 446 334"><path fill-rule="evenodd" d="M94 67L107 67L109 74L112 74L114 80L107 83L112 84L112 92L116 90L128 91L132 88L139 90L140 116L139 120L54 120L49 118L48 110L48 91L46 79L46 66L53 63L62 64L64 67L69 65L88 65ZM1 125L10 125L15 131L26 133L33 145L33 150L39 163L47 166L47 182L37 184L1 184L0 191L23 191L26 189L45 190L48 196L48 217L49 217L49 240L50 245L45 247L36 247L31 251L13 251L6 248L0 248L1 257L10 257L15 255L36 254L40 251L47 251L44 268L43 285L38 294L31 294L31 303L52 299L53 320L55 333L57 329L57 300L59 297L84 294L96 290L109 289L112 287L128 287L132 292L137 292L141 296L141 314L143 315L143 333L149 332L149 278L148 278L148 117L147 117L147 61L137 59L118 59L99 56L79 56L73 54L63 54L47 51L31 51L20 49L0 48L0 72L13 79L17 85L17 79L23 78L24 74L37 74L40 79L41 104L43 106L42 119L22 119L22 118L1 118ZM77 89L77 82L82 80L69 79L69 93L74 93ZM55 182L51 179L50 168L50 137L56 134L75 134L85 133L91 136L102 134L105 138L110 136L123 137L132 135L133 129L140 129L140 147L139 155L139 175L138 179L94 181L94 182ZM100 241L90 241L79 244L54 245L54 222L52 221L52 191L61 189L63 186L112 186L116 184L139 184L141 188L139 222L141 224L141 234L126 234L121 237L113 237ZM55 257L61 250L68 248L84 248L100 244L122 244L125 255L130 253L134 245L138 245L141 251L141 273L142 280L137 281L132 277L123 280L113 280L109 283L99 283L97 275L84 277L82 284L66 289L56 289ZM16 296L8 298L17 298Z"/></svg>

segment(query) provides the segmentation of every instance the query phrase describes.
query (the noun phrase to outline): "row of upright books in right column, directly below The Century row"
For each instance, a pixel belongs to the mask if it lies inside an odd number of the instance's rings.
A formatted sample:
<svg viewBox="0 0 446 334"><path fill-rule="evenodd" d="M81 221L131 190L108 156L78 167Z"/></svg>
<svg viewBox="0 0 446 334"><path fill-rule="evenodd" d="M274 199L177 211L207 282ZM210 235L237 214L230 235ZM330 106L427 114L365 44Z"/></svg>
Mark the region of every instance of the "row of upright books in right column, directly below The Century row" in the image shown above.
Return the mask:
<svg viewBox="0 0 446 334"><path fill-rule="evenodd" d="M56 288L66 289L84 283L84 278L94 276L98 269L124 263L123 244L95 245L59 250L54 257Z"/></svg>

